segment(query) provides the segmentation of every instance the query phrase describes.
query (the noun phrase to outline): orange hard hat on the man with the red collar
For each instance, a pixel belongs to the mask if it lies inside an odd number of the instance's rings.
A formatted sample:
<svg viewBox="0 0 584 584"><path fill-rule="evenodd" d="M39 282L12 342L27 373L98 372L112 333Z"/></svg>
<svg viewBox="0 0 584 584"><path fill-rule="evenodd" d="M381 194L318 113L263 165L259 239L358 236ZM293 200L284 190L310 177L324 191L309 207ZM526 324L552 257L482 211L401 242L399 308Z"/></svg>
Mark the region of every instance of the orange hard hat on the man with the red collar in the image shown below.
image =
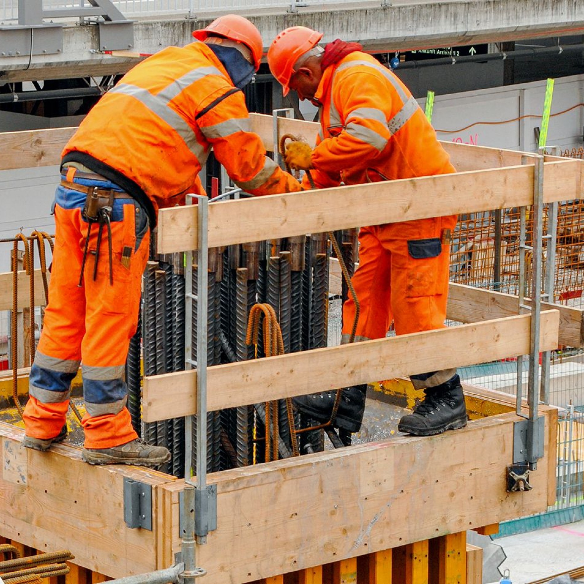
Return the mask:
<svg viewBox="0 0 584 584"><path fill-rule="evenodd" d="M294 74L296 61L317 46L322 33L306 26L291 26L283 30L267 50L267 64L272 75L280 82L282 93L288 95L290 78Z"/></svg>

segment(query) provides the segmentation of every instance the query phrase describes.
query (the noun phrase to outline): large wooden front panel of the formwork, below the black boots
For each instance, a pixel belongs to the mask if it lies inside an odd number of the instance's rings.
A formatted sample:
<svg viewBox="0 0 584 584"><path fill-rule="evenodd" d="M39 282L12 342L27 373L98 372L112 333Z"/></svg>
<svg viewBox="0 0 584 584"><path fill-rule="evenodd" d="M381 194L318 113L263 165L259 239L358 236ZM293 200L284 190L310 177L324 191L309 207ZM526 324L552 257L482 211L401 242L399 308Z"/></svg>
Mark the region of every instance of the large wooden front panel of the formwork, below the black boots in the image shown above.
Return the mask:
<svg viewBox="0 0 584 584"><path fill-rule="evenodd" d="M551 409L540 406L546 427ZM395 436L210 474L218 528L197 547L197 565L214 584L249 582L543 512L555 473L547 432L534 488L506 492L518 419L511 412L439 436Z"/></svg>

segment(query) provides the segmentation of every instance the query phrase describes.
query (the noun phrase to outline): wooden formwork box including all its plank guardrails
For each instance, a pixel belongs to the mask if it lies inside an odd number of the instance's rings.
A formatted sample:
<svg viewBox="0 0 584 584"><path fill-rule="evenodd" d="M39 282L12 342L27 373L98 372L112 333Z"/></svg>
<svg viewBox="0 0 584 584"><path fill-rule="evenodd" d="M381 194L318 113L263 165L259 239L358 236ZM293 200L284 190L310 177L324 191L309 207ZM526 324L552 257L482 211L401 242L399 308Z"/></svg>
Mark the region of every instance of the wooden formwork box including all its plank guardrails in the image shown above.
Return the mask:
<svg viewBox="0 0 584 584"><path fill-rule="evenodd" d="M272 117L254 114L252 122L270 150ZM280 134L304 135L308 141L318 130L308 122L280 118L277 123ZM57 164L71 133L65 128L0 136L6 152L0 164ZM533 155L445 146L461 172L214 204L209 245L533 200ZM576 198L581 186L580 162L546 157L545 202ZM427 203L423 195L429 192L439 204ZM196 241L195 206L161 211L160 253L195 249ZM517 314L516 298L489 293L485 302L467 287L454 290L449 311L466 323L461 326L209 367L207 409L530 352L531 316ZM540 350L557 347L562 335L582 344L582 311L546 305L540 318ZM197 566L207 571L203 582L480 581L479 552L467 546L466 531L496 529L492 526L504 520L543 512L554 501L557 410L539 408L544 449L530 475L533 489L509 493L506 466L513 462L513 426L520 420L515 402L486 390L467 388L466 394L467 404L483 404L475 408L482 414L457 432L395 436L209 474L208 483L217 485L217 529L196 547ZM196 371L144 381L146 421L192 415L195 404ZM41 551L67 548L76 565L115 578L173 564L180 551L182 479L137 467L91 467L69 444L47 453L27 450L22 436L22 430L0 424L0 536ZM124 477L151 490L151 531L124 523Z"/></svg>

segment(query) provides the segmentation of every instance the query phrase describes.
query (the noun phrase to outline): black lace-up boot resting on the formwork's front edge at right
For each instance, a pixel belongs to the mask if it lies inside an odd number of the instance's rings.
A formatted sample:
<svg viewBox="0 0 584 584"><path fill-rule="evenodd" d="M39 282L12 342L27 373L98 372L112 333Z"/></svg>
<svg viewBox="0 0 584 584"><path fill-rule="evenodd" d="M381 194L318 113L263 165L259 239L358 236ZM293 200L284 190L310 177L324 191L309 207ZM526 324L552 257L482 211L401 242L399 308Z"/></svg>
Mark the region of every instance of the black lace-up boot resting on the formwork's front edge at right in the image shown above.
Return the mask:
<svg viewBox="0 0 584 584"><path fill-rule="evenodd" d="M399 420L399 432L433 436L467 425L467 408L457 375L446 383L426 388L424 393L426 397L413 412Z"/></svg>

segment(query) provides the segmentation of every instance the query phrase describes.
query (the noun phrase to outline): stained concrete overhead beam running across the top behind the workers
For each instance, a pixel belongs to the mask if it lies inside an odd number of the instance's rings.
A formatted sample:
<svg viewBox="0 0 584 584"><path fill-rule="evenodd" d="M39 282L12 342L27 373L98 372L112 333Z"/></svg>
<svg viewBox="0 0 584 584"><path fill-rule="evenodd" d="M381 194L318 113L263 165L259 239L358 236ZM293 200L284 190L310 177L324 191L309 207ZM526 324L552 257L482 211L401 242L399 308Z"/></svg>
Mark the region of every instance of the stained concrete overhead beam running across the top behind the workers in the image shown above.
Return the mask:
<svg viewBox="0 0 584 584"><path fill-rule="evenodd" d="M324 33L323 41L340 38L359 41L367 51L391 52L414 48L457 46L510 41L536 36L567 36L584 33L584 11L573 0L393 0L381 2L321 4L284 12L284 8L244 11L234 8L258 26L267 45L280 30L294 25L309 26ZM192 41L192 30L204 28L220 12L162 16L137 20L134 24L134 56L105 55L98 51L95 25L65 26L63 51L55 55L2 57L3 81L55 79L126 72L137 62L136 54L155 53L169 45ZM2 31L0 30L0 34Z"/></svg>

